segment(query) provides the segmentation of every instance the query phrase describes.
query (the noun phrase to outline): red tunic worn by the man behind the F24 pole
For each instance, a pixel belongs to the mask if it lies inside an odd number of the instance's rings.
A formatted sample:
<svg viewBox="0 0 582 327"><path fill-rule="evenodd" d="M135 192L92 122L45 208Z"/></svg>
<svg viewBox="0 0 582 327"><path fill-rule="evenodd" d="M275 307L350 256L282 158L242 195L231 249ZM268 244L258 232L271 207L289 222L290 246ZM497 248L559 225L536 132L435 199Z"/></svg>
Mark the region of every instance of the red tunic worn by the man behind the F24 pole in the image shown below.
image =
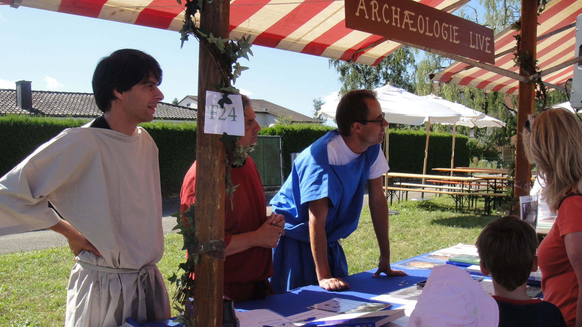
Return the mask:
<svg viewBox="0 0 582 327"><path fill-rule="evenodd" d="M224 241L230 243L233 234L253 232L267 220L267 201L262 189L261 177L257 166L250 157L239 168L230 169L230 180L237 186L230 205L225 198ZM194 184L196 183L196 161L184 177L180 192L182 211L194 203ZM234 208L234 210L232 209ZM273 274L271 248L252 247L245 251L229 255L224 262L223 293L242 302L252 300L256 282L267 286L267 294L274 294L268 278Z"/></svg>

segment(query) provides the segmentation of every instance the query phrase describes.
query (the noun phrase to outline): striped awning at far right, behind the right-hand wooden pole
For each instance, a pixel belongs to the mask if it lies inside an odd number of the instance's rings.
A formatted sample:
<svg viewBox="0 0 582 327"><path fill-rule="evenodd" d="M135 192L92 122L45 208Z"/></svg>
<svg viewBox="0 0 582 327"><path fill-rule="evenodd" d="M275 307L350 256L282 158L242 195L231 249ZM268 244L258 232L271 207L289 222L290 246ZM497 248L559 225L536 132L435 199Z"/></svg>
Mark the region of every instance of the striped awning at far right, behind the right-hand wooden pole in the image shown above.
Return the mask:
<svg viewBox="0 0 582 327"><path fill-rule="evenodd" d="M580 0L553 0L548 2L538 17L538 65L542 74L550 72L552 68L556 69L555 72L542 76L546 86L563 88L566 80L573 75L576 17L581 12ZM516 34L515 30L508 27L495 35L495 66L519 73L519 67L514 67L512 61L512 52L516 46L513 36ZM559 65L563 63L566 64L560 68ZM519 82L515 79L458 61L435 74L432 80L515 95L519 87Z"/></svg>

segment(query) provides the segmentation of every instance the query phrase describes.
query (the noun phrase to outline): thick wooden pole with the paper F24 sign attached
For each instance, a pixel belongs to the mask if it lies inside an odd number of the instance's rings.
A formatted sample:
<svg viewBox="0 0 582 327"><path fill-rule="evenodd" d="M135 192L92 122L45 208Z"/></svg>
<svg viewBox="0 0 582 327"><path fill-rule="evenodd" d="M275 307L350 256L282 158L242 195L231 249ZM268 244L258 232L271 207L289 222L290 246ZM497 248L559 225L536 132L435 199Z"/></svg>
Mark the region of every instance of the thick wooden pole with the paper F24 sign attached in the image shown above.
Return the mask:
<svg viewBox="0 0 582 327"><path fill-rule="evenodd" d="M228 38L229 1L204 2L200 27ZM206 42L206 40L201 40ZM196 239L202 243L224 238L225 148L221 135L204 133L206 91L222 84L214 59L203 44L198 57L198 116L196 137ZM194 324L222 326L223 261L201 254L194 268Z"/></svg>

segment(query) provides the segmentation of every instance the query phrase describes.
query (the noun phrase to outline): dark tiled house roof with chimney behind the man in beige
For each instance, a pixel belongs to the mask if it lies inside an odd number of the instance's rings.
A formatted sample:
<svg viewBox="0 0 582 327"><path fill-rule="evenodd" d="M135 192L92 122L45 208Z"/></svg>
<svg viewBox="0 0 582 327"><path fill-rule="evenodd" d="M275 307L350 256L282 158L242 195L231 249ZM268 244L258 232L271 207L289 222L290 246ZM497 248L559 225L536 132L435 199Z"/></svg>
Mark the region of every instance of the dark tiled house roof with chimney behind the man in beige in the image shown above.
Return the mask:
<svg viewBox="0 0 582 327"><path fill-rule="evenodd" d="M97 108L93 93L33 91L30 81L17 81L16 89L0 89L0 115L20 115L95 118ZM196 120L197 110L181 105L159 102L154 121L183 122Z"/></svg>

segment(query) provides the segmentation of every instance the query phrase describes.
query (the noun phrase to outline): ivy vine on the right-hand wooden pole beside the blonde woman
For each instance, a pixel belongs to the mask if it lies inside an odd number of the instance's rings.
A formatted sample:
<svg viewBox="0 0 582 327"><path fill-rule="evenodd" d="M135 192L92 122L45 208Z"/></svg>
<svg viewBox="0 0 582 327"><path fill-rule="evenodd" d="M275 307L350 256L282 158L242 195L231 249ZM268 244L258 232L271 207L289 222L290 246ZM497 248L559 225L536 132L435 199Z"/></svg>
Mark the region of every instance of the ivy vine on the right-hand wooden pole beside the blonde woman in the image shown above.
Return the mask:
<svg viewBox="0 0 582 327"><path fill-rule="evenodd" d="M538 0L538 17L544 11L547 2L548 2L547 0ZM520 51L521 19L511 24L511 29L517 31L517 34L513 36L517 41L516 50L515 52L513 52L513 62L514 62L513 66L514 67L519 66L521 69L523 69L524 72L529 74L529 76L534 75L538 76L533 80L533 82L535 83L535 98L542 100L544 102L545 107L546 102L548 100L547 97L548 91L546 90L544 81L542 81L542 78L539 77L542 72L540 66L537 65L539 61L536 59L535 61L532 62L532 56L530 53L528 52L521 53Z"/></svg>

